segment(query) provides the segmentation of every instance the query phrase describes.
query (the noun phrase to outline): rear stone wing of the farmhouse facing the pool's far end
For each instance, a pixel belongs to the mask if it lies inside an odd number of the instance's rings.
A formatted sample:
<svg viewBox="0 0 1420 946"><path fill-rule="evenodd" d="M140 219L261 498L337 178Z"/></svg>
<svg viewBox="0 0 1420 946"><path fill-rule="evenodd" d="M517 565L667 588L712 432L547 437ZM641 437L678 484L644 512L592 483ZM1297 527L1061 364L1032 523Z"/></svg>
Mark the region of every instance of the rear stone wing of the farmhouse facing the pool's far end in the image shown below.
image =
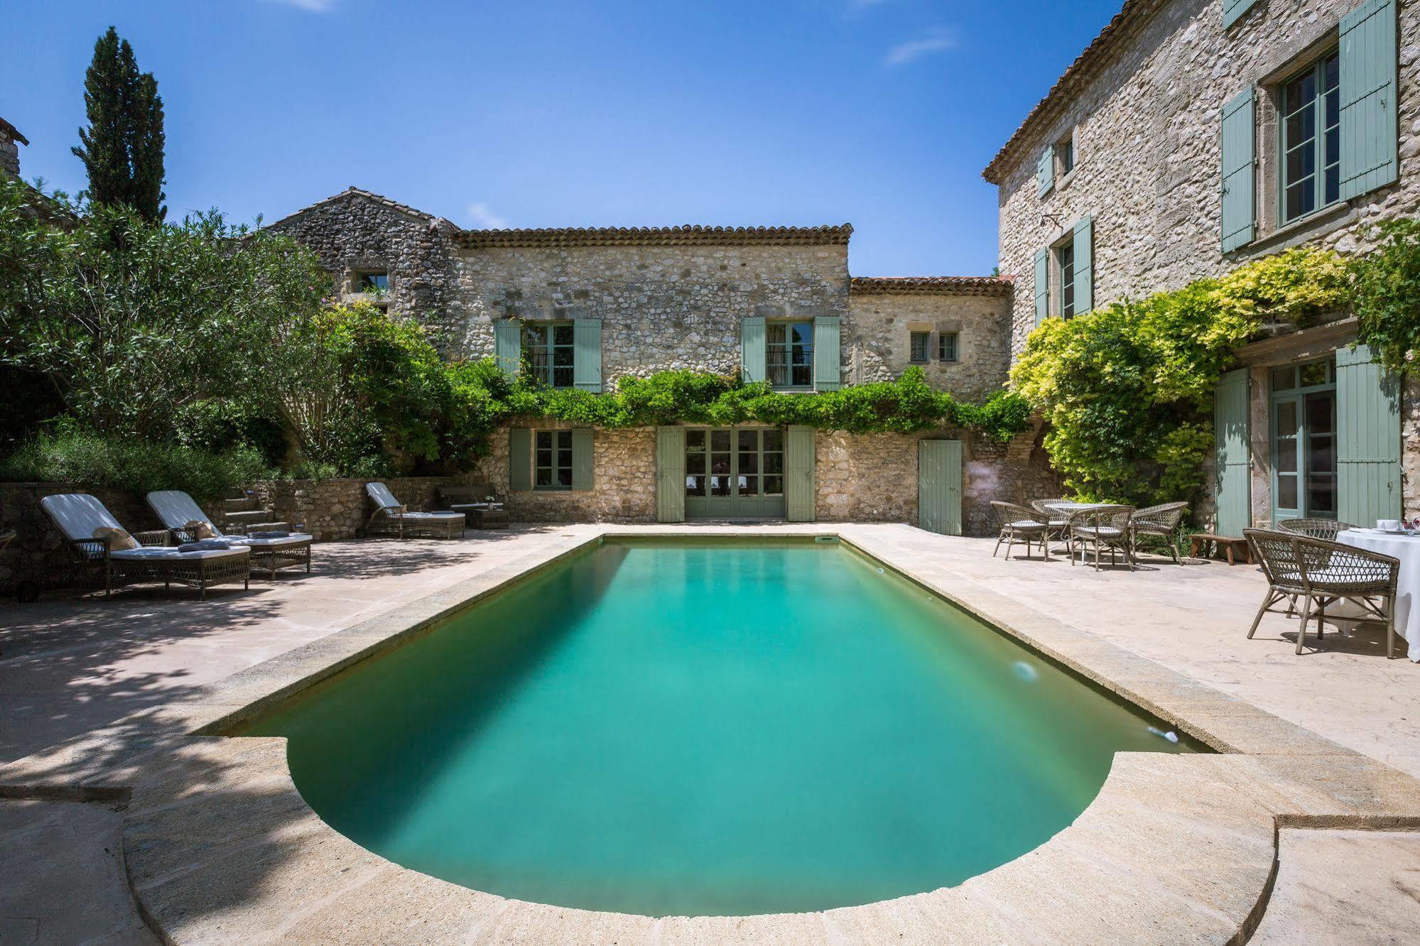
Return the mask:
<svg viewBox="0 0 1420 946"><path fill-rule="evenodd" d="M271 227L315 249L345 300L423 320L446 355L527 361L552 386L693 368L814 392L919 364L980 401L1010 366L1010 280L851 278L849 226L464 230L351 187ZM990 500L1059 489L1034 435L528 418L493 443L477 477L528 521L889 520L985 534Z"/></svg>

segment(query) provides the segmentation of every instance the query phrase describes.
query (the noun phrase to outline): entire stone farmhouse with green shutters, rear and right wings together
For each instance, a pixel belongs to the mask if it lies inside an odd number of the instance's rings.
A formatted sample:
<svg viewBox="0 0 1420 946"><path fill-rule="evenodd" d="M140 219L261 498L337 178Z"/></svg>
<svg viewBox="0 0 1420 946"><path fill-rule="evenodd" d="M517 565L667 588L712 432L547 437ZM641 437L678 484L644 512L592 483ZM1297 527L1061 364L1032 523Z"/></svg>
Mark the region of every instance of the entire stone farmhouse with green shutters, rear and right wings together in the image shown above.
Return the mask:
<svg viewBox="0 0 1420 946"><path fill-rule="evenodd" d="M314 247L344 298L419 317L449 355L527 355L551 385L697 368L807 392L920 364L981 399L1045 318L1302 243L1363 250L1375 222L1414 216L1417 50L1414 0L1129 0L984 170L1001 277L851 277L849 226L466 230L355 187L273 227ZM1238 351L1218 379L1216 509L1198 510L1218 531L1420 509L1420 398L1355 338L1336 314ZM530 418L479 476L525 520L983 534L991 499L1058 493L1039 433Z"/></svg>

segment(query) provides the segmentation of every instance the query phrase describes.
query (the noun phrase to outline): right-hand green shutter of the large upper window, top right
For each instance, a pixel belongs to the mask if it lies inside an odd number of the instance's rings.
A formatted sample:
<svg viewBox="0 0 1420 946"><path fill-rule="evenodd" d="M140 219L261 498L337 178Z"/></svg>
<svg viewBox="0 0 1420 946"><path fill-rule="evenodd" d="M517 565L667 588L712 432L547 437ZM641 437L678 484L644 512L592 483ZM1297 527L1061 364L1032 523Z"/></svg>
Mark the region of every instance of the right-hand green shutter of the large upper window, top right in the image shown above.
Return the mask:
<svg viewBox="0 0 1420 946"><path fill-rule="evenodd" d="M1396 0L1340 18L1340 199L1396 180Z"/></svg>

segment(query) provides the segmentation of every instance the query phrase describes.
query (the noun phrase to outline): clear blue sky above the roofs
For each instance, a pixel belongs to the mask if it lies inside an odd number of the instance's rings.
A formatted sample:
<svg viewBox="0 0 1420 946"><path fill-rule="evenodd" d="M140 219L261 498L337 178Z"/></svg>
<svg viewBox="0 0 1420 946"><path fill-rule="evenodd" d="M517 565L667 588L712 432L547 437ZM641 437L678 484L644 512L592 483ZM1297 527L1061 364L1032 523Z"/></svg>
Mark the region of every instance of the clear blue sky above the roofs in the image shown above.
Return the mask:
<svg viewBox="0 0 1420 946"><path fill-rule="evenodd" d="M1119 0L6 3L0 116L77 192L94 40L168 112L169 216L356 185L462 226L852 223L855 276L990 273L981 169Z"/></svg>

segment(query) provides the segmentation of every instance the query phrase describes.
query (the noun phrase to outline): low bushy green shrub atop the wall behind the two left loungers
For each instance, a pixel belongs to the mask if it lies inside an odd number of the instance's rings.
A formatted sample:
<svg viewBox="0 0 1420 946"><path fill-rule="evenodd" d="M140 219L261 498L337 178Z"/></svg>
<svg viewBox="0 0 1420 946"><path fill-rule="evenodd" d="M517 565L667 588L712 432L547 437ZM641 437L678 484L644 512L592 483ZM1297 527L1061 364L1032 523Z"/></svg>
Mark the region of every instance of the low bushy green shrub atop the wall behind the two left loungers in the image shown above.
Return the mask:
<svg viewBox="0 0 1420 946"><path fill-rule="evenodd" d="M0 480L108 486L143 496L186 490L199 503L236 496L271 469L250 446L222 453L81 430L44 433L0 463Z"/></svg>

